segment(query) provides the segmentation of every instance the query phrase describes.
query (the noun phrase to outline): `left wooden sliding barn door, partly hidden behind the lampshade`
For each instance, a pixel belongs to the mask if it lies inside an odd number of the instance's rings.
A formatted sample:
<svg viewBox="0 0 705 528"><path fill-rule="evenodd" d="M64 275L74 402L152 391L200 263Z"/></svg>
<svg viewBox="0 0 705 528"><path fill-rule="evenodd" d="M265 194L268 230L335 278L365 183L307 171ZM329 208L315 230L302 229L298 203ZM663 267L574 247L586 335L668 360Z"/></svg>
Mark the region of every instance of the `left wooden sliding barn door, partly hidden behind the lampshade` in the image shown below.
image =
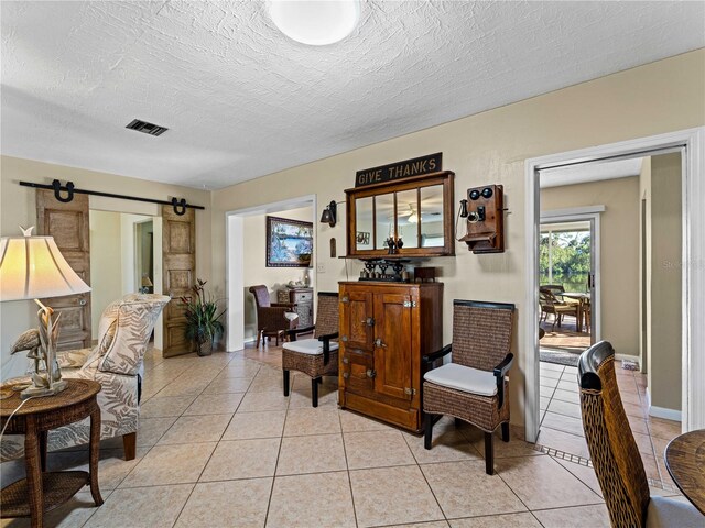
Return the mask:
<svg viewBox="0 0 705 528"><path fill-rule="evenodd" d="M88 196L76 194L64 204L53 190L36 189L36 229L37 234L54 237L66 262L90 285ZM41 300L62 315L57 350L90 348L90 292Z"/></svg>

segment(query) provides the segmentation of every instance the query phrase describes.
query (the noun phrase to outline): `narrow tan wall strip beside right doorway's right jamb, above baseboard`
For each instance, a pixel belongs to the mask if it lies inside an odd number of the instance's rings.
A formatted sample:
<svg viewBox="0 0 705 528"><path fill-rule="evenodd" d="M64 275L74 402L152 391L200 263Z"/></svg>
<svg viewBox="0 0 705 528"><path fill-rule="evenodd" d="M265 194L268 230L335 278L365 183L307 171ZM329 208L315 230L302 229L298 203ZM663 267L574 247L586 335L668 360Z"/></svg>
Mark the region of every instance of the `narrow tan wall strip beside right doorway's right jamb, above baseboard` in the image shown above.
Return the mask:
<svg viewBox="0 0 705 528"><path fill-rule="evenodd" d="M681 155L651 158L651 405L681 410Z"/></svg>

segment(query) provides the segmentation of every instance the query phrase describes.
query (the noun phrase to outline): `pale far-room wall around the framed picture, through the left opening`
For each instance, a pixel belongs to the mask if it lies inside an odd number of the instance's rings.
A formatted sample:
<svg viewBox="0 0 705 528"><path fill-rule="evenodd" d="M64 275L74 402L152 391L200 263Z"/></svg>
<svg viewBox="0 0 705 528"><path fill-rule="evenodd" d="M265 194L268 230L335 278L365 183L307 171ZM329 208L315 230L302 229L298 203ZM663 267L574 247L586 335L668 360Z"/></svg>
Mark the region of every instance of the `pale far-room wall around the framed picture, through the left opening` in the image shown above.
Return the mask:
<svg viewBox="0 0 705 528"><path fill-rule="evenodd" d="M313 207L302 207L297 209L289 209L285 211L272 212L269 216L289 218L291 220L303 220L305 222L314 222ZM276 290L284 288L290 280L303 282L303 267L267 267L267 215L253 215L245 217L245 251L243 260L243 284L245 284L245 339L251 340L257 337L257 311L254 306L254 297L249 293L248 288L258 284L263 284L269 288L272 302L276 302ZM317 241L314 240L314 251ZM313 270L308 270L308 276L312 278Z"/></svg>

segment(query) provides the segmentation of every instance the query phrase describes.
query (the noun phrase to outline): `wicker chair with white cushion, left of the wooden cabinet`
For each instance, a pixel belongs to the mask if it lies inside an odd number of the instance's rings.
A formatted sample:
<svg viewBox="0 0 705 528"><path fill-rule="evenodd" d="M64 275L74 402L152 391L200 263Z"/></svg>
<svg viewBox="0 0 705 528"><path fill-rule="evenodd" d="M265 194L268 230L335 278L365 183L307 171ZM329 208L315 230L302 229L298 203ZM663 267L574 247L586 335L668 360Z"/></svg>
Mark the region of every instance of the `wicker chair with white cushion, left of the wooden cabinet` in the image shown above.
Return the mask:
<svg viewBox="0 0 705 528"><path fill-rule="evenodd" d="M314 331L313 339L296 340L300 333ZM322 376L338 375L338 294L319 292L316 324L289 330L290 341L282 348L284 396L289 396L289 372L311 376L311 399L318 407L318 383Z"/></svg>

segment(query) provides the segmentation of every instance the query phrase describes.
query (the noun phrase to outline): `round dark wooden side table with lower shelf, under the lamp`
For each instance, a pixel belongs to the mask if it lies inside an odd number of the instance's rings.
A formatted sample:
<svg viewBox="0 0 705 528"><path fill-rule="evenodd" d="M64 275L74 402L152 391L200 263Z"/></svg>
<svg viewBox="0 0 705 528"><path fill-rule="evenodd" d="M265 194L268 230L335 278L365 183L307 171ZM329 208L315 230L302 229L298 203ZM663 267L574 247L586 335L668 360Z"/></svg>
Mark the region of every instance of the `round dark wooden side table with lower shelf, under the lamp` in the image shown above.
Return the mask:
<svg viewBox="0 0 705 528"><path fill-rule="evenodd" d="M6 435L24 435L26 479L2 488L0 517L31 517L32 528L44 522L44 512L64 504L84 485L90 485L96 506L102 504L98 488L100 408L96 395L100 384L89 380L66 380L66 388L54 395L28 400L12 417ZM22 403L19 393L0 400L0 427ZM46 438L56 429L90 417L89 471L46 472Z"/></svg>

